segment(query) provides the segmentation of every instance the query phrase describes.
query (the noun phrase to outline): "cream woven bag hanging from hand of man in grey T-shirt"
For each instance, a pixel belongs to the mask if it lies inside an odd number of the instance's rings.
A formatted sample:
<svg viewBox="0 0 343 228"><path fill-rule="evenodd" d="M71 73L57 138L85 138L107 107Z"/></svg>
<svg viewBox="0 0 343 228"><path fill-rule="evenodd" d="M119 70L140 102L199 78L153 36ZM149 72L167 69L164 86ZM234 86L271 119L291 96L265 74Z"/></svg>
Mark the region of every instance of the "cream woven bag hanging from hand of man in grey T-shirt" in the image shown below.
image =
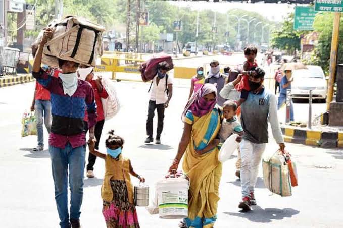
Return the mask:
<svg viewBox="0 0 343 228"><path fill-rule="evenodd" d="M263 163L263 181L265 186L273 193L280 196L291 196L290 173L286 157L281 151L277 151L270 157L266 157ZM293 172L297 175L297 166L292 162Z"/></svg>

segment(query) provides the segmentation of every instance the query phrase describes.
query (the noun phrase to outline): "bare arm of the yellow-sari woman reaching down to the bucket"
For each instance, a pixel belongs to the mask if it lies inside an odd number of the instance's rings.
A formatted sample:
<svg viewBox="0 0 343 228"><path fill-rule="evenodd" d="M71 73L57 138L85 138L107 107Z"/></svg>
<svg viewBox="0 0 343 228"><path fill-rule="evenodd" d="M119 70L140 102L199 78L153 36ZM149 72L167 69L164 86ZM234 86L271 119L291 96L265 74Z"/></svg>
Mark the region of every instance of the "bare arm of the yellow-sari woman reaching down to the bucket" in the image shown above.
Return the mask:
<svg viewBox="0 0 343 228"><path fill-rule="evenodd" d="M180 160L186 151L191 137L192 126L190 124L184 123L183 134L179 143L179 148L177 150L176 157L173 164L169 168L169 172L175 174L179 166Z"/></svg>

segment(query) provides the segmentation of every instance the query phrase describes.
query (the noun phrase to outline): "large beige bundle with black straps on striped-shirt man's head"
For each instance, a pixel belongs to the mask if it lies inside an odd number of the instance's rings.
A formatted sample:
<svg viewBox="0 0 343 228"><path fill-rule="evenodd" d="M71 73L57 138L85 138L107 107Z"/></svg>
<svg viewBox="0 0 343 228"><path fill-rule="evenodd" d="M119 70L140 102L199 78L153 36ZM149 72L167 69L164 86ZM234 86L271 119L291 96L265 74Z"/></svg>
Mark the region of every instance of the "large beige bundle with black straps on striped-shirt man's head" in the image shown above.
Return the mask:
<svg viewBox="0 0 343 228"><path fill-rule="evenodd" d="M52 22L53 37L43 49L42 63L58 68L58 59L95 67L96 58L103 54L102 34L105 28L84 18L70 16ZM40 32L40 43L44 30Z"/></svg>

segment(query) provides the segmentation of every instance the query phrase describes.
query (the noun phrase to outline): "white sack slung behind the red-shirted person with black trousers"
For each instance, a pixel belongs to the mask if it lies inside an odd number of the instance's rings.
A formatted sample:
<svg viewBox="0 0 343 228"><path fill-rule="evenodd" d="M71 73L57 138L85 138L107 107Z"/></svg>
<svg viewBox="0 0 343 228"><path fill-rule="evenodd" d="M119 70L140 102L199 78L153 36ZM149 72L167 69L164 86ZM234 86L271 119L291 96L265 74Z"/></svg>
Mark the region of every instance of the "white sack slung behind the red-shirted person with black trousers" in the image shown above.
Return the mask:
<svg viewBox="0 0 343 228"><path fill-rule="evenodd" d="M120 101L118 98L115 82L107 78L102 78L102 85L108 93L108 98L101 99L104 109L105 120L113 118L120 110Z"/></svg>

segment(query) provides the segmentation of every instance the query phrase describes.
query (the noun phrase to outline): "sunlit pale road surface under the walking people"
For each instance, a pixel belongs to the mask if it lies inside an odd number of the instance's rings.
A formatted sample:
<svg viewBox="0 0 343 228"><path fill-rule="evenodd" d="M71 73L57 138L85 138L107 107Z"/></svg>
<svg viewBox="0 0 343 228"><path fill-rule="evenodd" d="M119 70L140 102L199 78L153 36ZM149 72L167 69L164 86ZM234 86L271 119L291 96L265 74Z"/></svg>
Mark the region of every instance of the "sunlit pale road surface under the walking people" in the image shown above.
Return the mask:
<svg viewBox="0 0 343 228"><path fill-rule="evenodd" d="M152 187L164 176L176 154L182 133L181 112L188 95L188 84L188 81L175 81L174 96L165 113L162 145L147 146L143 141L149 84L118 83L123 106L115 118L105 122L100 150L105 152L106 132L114 129L126 141L124 154L131 158L137 173L143 175ZM4 228L58 227L48 151L33 152L31 148L36 146L36 137L20 136L22 113L30 107L33 89L34 83L0 89L0 227ZM304 116L307 104L296 105L296 116ZM46 134L44 140L47 146ZM223 165L216 228L342 227L343 202L340 195L343 187L343 152L297 144L286 144L286 148L298 167L299 186L293 188L293 196L282 198L271 195L263 184L260 170L256 189L258 206L253 207L251 212L242 213L237 207L240 182L234 176L233 158ZM271 138L265 153L273 153L276 149L277 145ZM104 177L103 160L96 161L94 173L96 178L85 178L84 181L83 228L105 227L100 196ZM136 180L134 184L137 184ZM139 207L137 211L143 228L177 227L178 220L160 219L158 215L150 215L145 208Z"/></svg>

